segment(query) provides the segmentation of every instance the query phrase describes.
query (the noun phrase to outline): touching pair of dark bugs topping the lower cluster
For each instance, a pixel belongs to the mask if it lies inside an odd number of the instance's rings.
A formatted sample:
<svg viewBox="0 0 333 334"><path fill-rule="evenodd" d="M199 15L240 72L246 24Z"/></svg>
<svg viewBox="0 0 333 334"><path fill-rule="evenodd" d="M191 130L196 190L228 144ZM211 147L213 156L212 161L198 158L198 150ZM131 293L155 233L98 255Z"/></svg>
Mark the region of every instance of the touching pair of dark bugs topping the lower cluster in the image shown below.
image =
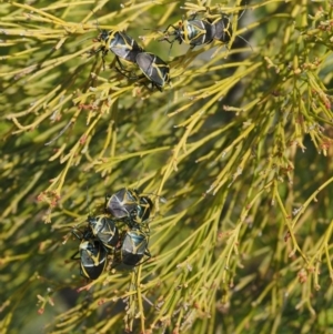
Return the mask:
<svg viewBox="0 0 333 334"><path fill-rule="evenodd" d="M122 188L113 195L105 196L105 212L124 221L131 229L150 217L153 203L138 190Z"/></svg>

